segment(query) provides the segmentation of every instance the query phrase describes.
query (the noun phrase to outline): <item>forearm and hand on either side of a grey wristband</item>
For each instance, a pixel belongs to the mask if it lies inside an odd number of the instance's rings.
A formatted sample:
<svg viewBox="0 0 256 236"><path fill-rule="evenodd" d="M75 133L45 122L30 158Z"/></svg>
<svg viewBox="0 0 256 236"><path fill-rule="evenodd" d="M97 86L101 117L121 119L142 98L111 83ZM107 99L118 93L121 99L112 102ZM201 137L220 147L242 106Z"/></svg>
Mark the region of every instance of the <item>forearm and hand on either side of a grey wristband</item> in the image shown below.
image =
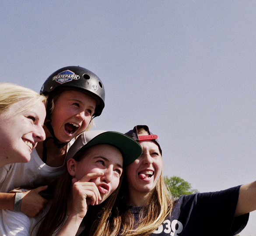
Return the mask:
<svg viewBox="0 0 256 236"><path fill-rule="evenodd" d="M23 192L21 212L30 217L35 217L47 204L47 200L39 193L46 190L47 186L41 186L27 192ZM0 193L0 208L13 210L15 193Z"/></svg>

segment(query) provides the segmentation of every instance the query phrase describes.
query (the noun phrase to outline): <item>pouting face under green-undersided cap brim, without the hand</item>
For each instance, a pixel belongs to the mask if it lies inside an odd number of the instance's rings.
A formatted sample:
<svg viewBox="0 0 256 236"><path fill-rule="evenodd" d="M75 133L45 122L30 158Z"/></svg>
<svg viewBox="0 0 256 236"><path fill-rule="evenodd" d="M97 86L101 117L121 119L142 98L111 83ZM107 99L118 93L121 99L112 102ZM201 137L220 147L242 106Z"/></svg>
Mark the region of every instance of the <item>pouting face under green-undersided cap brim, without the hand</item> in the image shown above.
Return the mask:
<svg viewBox="0 0 256 236"><path fill-rule="evenodd" d="M92 179L98 187L102 200L105 201L119 185L123 173L123 156L116 147L99 144L88 149L88 155L83 160L75 162L75 178L81 180L89 173L102 173L101 177Z"/></svg>

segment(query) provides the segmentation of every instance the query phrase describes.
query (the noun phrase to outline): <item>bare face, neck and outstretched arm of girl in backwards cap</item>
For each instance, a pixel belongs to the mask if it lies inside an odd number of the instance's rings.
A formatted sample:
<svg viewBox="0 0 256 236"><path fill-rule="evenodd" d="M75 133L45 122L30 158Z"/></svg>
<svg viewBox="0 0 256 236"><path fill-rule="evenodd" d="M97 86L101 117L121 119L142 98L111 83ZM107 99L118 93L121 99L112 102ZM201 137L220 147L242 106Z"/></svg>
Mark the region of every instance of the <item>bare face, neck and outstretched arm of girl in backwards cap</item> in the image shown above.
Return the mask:
<svg viewBox="0 0 256 236"><path fill-rule="evenodd" d="M139 143L143 149L142 155L126 167L129 189L128 205L133 206L148 204L162 171L162 160L158 146L152 141L140 141ZM240 187L235 217L255 210L256 181Z"/></svg>

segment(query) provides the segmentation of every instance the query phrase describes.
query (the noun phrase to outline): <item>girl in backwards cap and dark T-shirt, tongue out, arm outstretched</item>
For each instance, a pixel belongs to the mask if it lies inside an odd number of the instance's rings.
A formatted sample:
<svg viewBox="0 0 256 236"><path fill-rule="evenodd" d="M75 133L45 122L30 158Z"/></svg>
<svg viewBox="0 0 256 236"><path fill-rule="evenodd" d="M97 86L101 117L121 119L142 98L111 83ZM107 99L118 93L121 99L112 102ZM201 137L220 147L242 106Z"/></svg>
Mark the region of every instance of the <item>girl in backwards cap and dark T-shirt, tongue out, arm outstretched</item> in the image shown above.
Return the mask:
<svg viewBox="0 0 256 236"><path fill-rule="evenodd" d="M107 220L91 219L91 231L87 226L81 236L233 236L244 229L249 212L256 210L256 181L174 201L162 176L157 135L146 125L126 135L140 143L143 153L126 167L116 207Z"/></svg>

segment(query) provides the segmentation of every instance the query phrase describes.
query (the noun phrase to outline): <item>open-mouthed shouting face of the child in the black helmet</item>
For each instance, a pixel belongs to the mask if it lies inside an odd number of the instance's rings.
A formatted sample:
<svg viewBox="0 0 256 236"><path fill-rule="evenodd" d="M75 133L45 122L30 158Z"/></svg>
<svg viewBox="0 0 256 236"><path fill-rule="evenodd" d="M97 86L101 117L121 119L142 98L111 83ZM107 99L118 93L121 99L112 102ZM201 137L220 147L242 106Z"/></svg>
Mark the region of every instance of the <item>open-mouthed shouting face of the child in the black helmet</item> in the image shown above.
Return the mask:
<svg viewBox="0 0 256 236"><path fill-rule="evenodd" d="M79 91L63 91L51 115L56 138L69 142L83 132L90 124L95 108L96 101L91 96Z"/></svg>

